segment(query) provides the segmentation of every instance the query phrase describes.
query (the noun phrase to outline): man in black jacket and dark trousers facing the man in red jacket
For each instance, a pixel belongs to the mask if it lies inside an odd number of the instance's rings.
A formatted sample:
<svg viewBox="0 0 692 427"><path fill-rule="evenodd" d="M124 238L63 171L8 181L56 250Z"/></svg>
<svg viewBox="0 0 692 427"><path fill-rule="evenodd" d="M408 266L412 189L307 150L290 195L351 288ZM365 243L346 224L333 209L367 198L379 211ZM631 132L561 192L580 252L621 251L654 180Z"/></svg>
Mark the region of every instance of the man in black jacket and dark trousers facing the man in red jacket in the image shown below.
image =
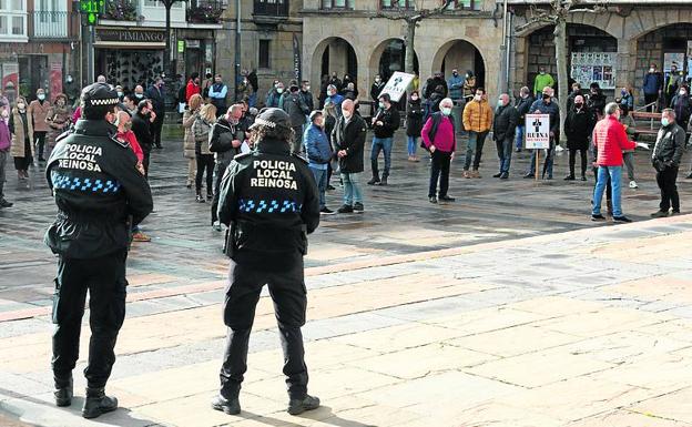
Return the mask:
<svg viewBox="0 0 692 427"><path fill-rule="evenodd" d="M671 214L680 214L680 195L678 194L678 171L684 153L685 131L676 120L676 113L672 109L663 110L661 115L661 129L657 135L657 142L651 153L651 162L657 171L657 183L661 189L661 203L659 211L651 214L652 217L664 217Z"/></svg>

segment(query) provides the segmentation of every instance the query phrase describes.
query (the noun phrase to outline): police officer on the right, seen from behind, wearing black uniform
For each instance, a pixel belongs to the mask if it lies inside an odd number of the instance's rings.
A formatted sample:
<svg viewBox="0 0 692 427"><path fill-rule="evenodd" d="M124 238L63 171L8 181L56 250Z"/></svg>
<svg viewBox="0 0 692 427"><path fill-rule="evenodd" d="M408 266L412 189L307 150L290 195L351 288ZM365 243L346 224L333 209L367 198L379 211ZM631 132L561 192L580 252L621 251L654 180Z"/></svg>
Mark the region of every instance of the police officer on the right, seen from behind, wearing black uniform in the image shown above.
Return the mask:
<svg viewBox="0 0 692 427"><path fill-rule="evenodd" d="M225 252L232 261L224 305L228 336L221 392L212 407L241 411L250 331L267 284L284 350L287 410L298 415L319 406L319 399L307 394L301 334L307 305L303 256L307 234L319 224L319 195L307 162L291 154L295 135L288 114L264 109L251 129L255 150L236 155L221 184L218 218L228 226Z"/></svg>

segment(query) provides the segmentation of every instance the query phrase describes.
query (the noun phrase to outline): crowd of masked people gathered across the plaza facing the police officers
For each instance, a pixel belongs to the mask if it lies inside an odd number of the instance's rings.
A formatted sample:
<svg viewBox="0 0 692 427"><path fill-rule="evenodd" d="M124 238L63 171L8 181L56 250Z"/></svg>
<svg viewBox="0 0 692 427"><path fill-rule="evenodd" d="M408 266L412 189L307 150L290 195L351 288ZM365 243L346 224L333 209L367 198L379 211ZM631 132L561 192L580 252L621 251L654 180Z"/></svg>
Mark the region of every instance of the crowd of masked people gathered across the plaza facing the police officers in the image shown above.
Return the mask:
<svg viewBox="0 0 692 427"><path fill-rule="evenodd" d="M655 111L663 106L657 148L660 149L669 140L674 142L683 138L684 149L686 133L692 130L689 129L692 112L690 88L676 70L672 70L668 79L663 79L663 74L657 70L657 65L651 64L642 87L645 108ZM105 78L100 75L98 81L105 82ZM258 113L257 108L263 106L282 109L291 118L294 132L292 151L304 155L309 162L320 192L323 214L364 211L362 183L365 180L362 175L365 173L365 141L368 131L373 132L373 139L369 153L370 179L366 183L380 186L388 184L394 136L403 123L406 126L408 161L419 162L418 149L424 149L425 157L430 162L428 199L431 203L455 200L448 194L449 172L450 163L458 151L464 153L462 176L481 177L479 166L489 135L498 154L498 171L493 177L508 180L512 152L523 150L523 123L526 114L530 113L550 116L550 145L545 150L542 170L538 171L538 175L546 180L553 179L554 154L562 149L559 143L562 112L554 96L556 81L545 68L540 68L532 89L521 88L515 102L511 94L502 93L495 108L488 101L486 90L477 85L476 77L470 70L461 75L454 69L447 80L441 72L437 72L426 79L421 88L420 83L416 75L408 96L400 102L393 102L389 94L383 91L385 81L376 75L367 101L372 105L372 116L366 122L359 111L360 104L366 102L359 100L356 82L347 73L342 78L337 73L324 75L317 95L313 94L307 80L291 80L287 83L275 80L263 99L258 99L256 72L243 70L242 82L236 88L238 101L231 106L227 106L227 100L232 94L221 74L206 74L202 81L197 73L193 73L186 83L180 84L177 92L177 111L182 113L184 133L183 155L187 160L186 186L192 189L194 185L197 203L211 203L212 226L221 231L215 212L221 176L235 155L253 149L251 126ZM152 150L162 148L161 131L166 100L164 81L156 78L149 88L138 85L131 93L123 91L120 85L114 88L119 95L120 110L125 113L118 114L114 123L118 125L116 138L130 142L140 161L138 167L144 176L149 176ZM609 185L603 185L601 181L606 179L603 169L611 171L624 165L629 186L638 187L634 171L635 146L631 143L638 136L637 123L631 114L634 110L632 88L621 88L613 103L615 110L607 103L607 96L598 83L592 83L584 91L579 83L573 82L570 89L567 111L563 113L566 149L569 153L569 170L564 180L587 181L591 170L597 179L594 197L598 197L599 189L608 189L609 213L615 220L624 217L615 209L619 209L615 206L615 201L619 201L615 197L619 185L614 185L612 177ZM460 123L457 123L452 114L455 109L461 109ZM44 162L59 135L79 120L80 106L72 104L64 94L57 94L53 102L50 102L45 92L39 89L31 102L18 96L13 105L9 105L7 100L2 103L0 96L0 113L1 176L4 176L6 161L11 156L22 182L29 177L29 166L33 160ZM601 140L604 140L603 144L612 143L614 136L601 135L599 139L598 132L604 126L601 123L611 123L613 118L618 119L623 131L617 134L621 148L620 156L607 155L604 149L599 146ZM668 122L664 121L665 118ZM671 130L674 130L674 138L670 136ZM459 139L461 134L467 136L465 146L461 146ZM661 153L672 155L666 150L657 148L653 150L654 156ZM384 157L381 167L380 153ZM538 151L533 150L523 177L532 179L537 175L537 154ZM675 180L672 177L672 169L676 176L682 154L675 150L673 154L673 157L660 159L663 163L657 163L655 157L652 157L652 163L658 175L662 176L658 180L662 197L671 200L669 204L672 212L676 213L679 203L672 202L676 199L673 195ZM611 164L612 161L620 163L614 165ZM661 164L666 166L661 167ZM338 176L339 184L344 187L343 203L336 212L326 206L325 199L325 192L336 190L332 185L333 176ZM692 171L686 177L692 179ZM2 181L4 180L0 180ZM619 180L617 181L619 184ZM10 207L12 203L2 196L1 189L0 186L0 207ZM600 213L596 212L596 199L593 206L594 216L598 216ZM662 203L661 211L664 207L665 204ZM657 213L657 216L660 215L660 212ZM135 231L135 240L150 238L141 231Z"/></svg>

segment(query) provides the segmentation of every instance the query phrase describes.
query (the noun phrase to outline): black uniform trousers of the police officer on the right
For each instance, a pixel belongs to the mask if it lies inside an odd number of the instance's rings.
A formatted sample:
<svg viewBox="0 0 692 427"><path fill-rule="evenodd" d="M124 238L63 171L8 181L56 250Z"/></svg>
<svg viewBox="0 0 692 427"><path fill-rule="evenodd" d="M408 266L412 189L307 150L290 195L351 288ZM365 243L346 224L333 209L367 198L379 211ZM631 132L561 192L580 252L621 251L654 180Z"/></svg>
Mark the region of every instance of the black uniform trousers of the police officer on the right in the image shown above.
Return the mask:
<svg viewBox="0 0 692 427"><path fill-rule="evenodd" d="M307 366L301 326L305 325L307 297L303 276L303 257L296 256L285 268L267 271L266 263L238 264L231 261L224 304L224 323L228 326L224 363L221 367L221 394L237 397L247 370L247 343L262 287L267 285L274 302L282 349L284 375L291 398L307 394Z"/></svg>

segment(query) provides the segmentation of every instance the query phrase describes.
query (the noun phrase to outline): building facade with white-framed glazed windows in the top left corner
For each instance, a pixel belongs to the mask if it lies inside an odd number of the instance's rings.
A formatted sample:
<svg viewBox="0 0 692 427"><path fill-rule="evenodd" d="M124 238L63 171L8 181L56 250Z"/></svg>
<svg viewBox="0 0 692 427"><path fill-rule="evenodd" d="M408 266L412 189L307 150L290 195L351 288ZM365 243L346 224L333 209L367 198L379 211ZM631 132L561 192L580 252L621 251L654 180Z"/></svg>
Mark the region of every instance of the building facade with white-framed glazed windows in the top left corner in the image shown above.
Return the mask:
<svg viewBox="0 0 692 427"><path fill-rule="evenodd" d="M35 99L43 88L51 100L63 92L64 77L79 61L79 16L69 0L0 1L2 92Z"/></svg>

